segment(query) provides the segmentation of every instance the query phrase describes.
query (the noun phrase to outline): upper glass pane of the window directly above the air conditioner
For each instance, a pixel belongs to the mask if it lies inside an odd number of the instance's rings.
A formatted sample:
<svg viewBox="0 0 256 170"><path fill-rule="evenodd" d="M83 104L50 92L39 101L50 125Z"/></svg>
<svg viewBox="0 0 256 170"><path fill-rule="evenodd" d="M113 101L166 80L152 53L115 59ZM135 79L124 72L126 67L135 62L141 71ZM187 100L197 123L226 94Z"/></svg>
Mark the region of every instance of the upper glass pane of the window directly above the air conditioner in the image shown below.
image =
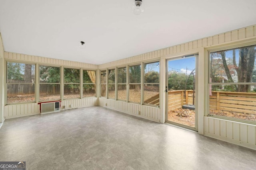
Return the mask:
<svg viewBox="0 0 256 170"><path fill-rule="evenodd" d="M60 67L39 66L40 83L60 83Z"/></svg>

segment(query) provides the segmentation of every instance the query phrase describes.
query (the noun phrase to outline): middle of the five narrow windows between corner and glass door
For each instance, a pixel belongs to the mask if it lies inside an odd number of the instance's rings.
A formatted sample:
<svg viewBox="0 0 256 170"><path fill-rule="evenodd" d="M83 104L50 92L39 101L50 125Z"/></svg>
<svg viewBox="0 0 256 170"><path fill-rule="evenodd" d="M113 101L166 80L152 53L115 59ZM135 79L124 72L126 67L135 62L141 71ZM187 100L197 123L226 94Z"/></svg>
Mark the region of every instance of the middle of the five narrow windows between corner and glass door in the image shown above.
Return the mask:
<svg viewBox="0 0 256 170"><path fill-rule="evenodd" d="M118 68L117 99L126 101L126 67Z"/></svg>

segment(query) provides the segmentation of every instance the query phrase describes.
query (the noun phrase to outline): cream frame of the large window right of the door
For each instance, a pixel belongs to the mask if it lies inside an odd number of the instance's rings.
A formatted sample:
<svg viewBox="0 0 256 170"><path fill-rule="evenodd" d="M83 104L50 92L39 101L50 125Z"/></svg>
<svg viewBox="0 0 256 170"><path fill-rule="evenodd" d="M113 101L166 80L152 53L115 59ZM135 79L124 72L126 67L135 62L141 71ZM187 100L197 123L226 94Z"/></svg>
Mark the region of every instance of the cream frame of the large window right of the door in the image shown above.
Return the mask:
<svg viewBox="0 0 256 170"><path fill-rule="evenodd" d="M215 117L218 119L224 119L224 120L229 120L229 121L236 121L236 122L240 122L240 123L249 123L249 124L253 124L256 125L256 121L250 121L250 120L245 120L245 119L238 119L238 118L234 118L234 117L228 117L228 116L222 116L222 115L213 115L213 114L209 114L210 113L210 86L211 85L219 85L219 86L225 86L225 85L240 85L240 84L246 84L246 85L256 85L256 82L210 82L210 74L211 74L211 66L210 66L210 53L217 53L219 51L228 51L228 50L232 50L232 49L239 49L239 48L243 48L243 47L250 47L250 46L256 46L256 43L240 43L240 44L236 44L236 45L230 45L230 46L225 46L225 47L219 47L219 48L208 48L207 49L207 59L206 59L206 69L208 71L207 74L207 84L208 86L206 87L206 91L207 91L207 97L206 97L206 116L208 117ZM255 59L256 61L256 59ZM256 93L255 93L256 96ZM255 107L256 108L256 107ZM246 113L244 113L246 114Z"/></svg>

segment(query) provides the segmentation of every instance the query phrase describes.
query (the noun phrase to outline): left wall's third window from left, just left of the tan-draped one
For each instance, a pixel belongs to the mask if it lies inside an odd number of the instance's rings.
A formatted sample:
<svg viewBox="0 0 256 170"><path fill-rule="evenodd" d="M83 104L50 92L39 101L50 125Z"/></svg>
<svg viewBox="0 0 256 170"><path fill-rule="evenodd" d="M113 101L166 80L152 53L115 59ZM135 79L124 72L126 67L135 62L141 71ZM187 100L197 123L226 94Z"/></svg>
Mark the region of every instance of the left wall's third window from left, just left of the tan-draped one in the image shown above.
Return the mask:
<svg viewBox="0 0 256 170"><path fill-rule="evenodd" d="M64 68L64 99L80 98L80 69Z"/></svg>

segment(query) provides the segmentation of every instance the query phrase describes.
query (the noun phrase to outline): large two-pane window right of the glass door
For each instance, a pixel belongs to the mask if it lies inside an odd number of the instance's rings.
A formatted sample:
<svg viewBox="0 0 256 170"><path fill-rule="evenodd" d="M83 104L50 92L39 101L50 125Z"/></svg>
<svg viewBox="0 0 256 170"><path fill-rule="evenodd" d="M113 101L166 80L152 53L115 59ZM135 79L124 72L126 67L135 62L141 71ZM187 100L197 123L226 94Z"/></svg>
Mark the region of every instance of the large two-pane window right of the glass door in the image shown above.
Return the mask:
<svg viewBox="0 0 256 170"><path fill-rule="evenodd" d="M256 121L256 45L210 52L209 114Z"/></svg>

